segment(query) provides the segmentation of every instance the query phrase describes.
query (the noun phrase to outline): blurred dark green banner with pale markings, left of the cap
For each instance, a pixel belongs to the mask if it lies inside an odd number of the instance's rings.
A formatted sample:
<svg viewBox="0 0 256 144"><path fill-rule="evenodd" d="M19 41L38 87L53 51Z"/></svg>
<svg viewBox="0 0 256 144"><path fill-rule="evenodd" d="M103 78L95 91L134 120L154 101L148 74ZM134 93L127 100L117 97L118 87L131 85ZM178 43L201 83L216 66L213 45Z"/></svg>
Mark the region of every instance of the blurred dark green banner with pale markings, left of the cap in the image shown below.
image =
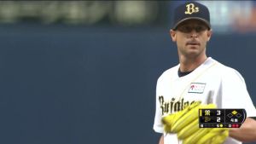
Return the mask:
<svg viewBox="0 0 256 144"><path fill-rule="evenodd" d="M0 23L159 25L164 5L157 1L1 1Z"/></svg>

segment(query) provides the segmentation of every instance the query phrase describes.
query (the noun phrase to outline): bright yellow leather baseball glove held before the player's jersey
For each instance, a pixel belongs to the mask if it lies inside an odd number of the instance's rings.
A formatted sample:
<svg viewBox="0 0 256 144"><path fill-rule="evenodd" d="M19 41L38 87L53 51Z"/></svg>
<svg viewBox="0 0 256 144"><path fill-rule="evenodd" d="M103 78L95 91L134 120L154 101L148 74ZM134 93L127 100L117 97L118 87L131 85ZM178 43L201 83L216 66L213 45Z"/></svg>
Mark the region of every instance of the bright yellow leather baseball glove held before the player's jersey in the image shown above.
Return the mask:
<svg viewBox="0 0 256 144"><path fill-rule="evenodd" d="M183 111L162 118L167 133L177 133L183 144L221 144L229 135L226 128L199 128L199 109L216 108L214 104L201 105L200 101L185 107Z"/></svg>

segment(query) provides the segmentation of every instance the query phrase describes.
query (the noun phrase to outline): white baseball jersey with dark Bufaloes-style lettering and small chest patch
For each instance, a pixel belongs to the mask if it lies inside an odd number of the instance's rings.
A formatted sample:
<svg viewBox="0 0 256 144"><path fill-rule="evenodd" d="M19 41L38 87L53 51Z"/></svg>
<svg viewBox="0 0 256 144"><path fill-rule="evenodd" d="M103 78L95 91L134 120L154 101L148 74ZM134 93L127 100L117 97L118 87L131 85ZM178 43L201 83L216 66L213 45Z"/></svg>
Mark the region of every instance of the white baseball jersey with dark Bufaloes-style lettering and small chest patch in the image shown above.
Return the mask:
<svg viewBox="0 0 256 144"><path fill-rule="evenodd" d="M156 112L154 130L164 133L161 118L177 112L193 101L203 104L214 103L218 108L244 108L247 117L255 117L253 106L244 79L235 69L224 66L211 57L193 72L178 77L179 65L160 76L156 86ZM181 144L176 134L165 134L165 144ZM224 144L241 144L228 137Z"/></svg>

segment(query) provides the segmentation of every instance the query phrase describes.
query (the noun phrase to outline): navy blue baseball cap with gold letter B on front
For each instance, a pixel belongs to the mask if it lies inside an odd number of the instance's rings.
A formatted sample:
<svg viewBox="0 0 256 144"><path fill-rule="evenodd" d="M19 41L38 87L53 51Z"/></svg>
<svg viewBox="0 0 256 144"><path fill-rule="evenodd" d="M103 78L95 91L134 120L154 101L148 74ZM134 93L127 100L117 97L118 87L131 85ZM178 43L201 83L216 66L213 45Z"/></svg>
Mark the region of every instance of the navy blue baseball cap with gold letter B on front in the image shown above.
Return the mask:
<svg viewBox="0 0 256 144"><path fill-rule="evenodd" d="M186 2L177 6L174 10L172 29L176 30L177 26L185 20L201 20L208 26L208 29L211 29L209 9L201 3Z"/></svg>

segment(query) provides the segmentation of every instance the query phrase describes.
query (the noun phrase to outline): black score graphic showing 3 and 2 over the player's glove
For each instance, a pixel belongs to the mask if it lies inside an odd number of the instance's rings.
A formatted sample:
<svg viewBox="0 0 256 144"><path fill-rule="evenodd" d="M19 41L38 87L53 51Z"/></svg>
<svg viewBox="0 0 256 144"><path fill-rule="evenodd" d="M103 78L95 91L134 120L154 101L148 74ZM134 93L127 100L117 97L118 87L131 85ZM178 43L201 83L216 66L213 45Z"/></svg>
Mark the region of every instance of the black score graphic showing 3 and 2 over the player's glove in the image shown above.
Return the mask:
<svg viewBox="0 0 256 144"><path fill-rule="evenodd" d="M245 109L199 109L200 128L240 128L246 118Z"/></svg>

